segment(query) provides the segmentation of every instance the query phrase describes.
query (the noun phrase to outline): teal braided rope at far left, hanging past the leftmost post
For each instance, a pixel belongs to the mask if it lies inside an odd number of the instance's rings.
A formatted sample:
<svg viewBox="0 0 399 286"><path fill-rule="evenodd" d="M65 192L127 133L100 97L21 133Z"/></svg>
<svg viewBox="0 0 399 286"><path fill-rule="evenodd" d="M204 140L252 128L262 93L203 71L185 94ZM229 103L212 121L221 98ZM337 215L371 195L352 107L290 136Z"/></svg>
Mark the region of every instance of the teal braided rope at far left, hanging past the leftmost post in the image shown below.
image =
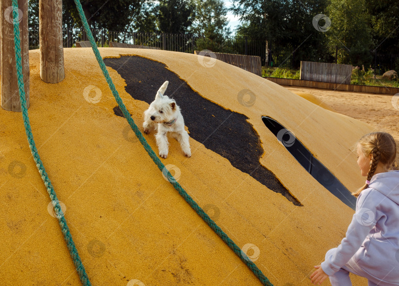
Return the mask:
<svg viewBox="0 0 399 286"><path fill-rule="evenodd" d="M31 149L34 162L36 163L37 169L39 170L41 179L47 188L47 192L50 196L51 202L53 203L55 213L57 215L58 221L60 223L62 232L64 234L64 239L66 241L66 245L68 247L70 256L73 259L73 263L75 264L76 270L79 274L80 280L84 286L91 286L89 278L87 277L86 270L80 260L78 251L76 250L75 244L73 243L72 236L69 232L69 228L66 224L66 219L64 217L63 211L61 210L60 202L57 198L57 195L54 191L53 185L51 184L50 179L47 176L46 170L44 169L43 163L40 159L39 154L37 153L36 144L33 140L33 134L31 129L31 124L29 122L28 110L26 107L26 99L25 99L25 87L24 87L24 79L22 74L22 64L21 64L21 44L20 44L20 30L19 30L19 22L18 22L18 0L12 0L12 16L14 22L14 44L15 44L15 62L17 68L17 77L18 77L18 89L19 89L19 100L21 103L22 117L24 119L25 131L28 138L29 147Z"/></svg>

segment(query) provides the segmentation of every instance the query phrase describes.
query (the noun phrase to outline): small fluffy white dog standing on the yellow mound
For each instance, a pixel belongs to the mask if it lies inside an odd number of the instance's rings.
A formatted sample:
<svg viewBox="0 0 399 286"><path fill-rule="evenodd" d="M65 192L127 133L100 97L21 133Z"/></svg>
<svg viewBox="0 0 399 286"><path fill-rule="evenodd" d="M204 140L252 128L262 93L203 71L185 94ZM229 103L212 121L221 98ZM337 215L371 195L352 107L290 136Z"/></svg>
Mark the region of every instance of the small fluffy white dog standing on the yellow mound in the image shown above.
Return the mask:
<svg viewBox="0 0 399 286"><path fill-rule="evenodd" d="M167 157L168 145L167 133L170 132L179 143L187 157L191 157L189 135L184 130L184 119L180 113L180 107L176 105L173 99L164 95L167 84L165 81L155 96L155 100L144 111L143 128L146 134L152 130L158 130L155 138L159 149L159 155L162 158Z"/></svg>

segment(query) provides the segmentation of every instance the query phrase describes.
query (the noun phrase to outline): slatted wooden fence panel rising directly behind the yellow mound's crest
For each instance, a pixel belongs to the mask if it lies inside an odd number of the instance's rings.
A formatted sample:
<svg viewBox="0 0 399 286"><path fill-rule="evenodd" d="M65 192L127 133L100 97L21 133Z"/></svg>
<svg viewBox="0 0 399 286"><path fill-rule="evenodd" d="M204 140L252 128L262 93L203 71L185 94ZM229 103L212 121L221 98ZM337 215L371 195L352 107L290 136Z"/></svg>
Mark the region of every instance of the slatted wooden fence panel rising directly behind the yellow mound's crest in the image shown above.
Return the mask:
<svg viewBox="0 0 399 286"><path fill-rule="evenodd" d="M222 62L241 68L245 71L262 76L262 63L261 57L259 56L244 56L202 51L194 51L194 54L201 56L210 56Z"/></svg>

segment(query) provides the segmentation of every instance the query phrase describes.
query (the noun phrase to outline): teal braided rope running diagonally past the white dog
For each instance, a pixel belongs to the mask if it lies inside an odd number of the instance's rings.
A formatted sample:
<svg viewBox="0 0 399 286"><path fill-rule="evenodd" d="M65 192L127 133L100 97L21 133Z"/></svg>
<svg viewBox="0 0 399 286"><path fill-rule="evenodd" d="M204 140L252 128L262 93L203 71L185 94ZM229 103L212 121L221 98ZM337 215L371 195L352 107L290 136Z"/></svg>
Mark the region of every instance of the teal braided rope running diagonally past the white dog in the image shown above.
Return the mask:
<svg viewBox="0 0 399 286"><path fill-rule="evenodd" d="M128 109L125 107L121 97L118 94L118 91L115 88L115 85L112 82L111 77L109 76L107 69L105 68L105 64L102 60L99 49L97 48L97 44L94 40L92 32L90 31L89 25L87 24L86 17L83 12L82 5L80 4L80 1L79 0L74 0L74 1L75 1L77 10L78 10L80 19L82 20L83 27L86 31L87 36L89 37L94 54L96 55L96 59L99 62L101 71L104 74L105 79L109 85L109 88L112 91L112 95L115 97L115 100L119 105L119 108L121 109L125 118L128 120L129 125L132 127L133 132L137 136L140 143L147 150L148 154L150 155L152 160L155 162L155 164L158 166L158 168L164 173L164 175L167 175L166 177L168 178L169 182L174 186L174 188L179 192L179 194L186 200L186 202L189 203L189 205L197 212L197 214L199 214L199 216L202 217L202 219L216 232L216 234L222 238L222 240L235 252L235 254L237 254L238 257L241 258L241 260L252 270L252 272L256 275L256 277L258 277L259 280L264 285L272 286L272 284L269 282L269 280L266 278L266 276L262 273L262 271L255 265L255 263L252 262L252 260L249 259L248 256L243 251L241 251L241 249L233 242L233 240L231 240L229 238L229 236L199 207L199 205L191 198L191 196L189 194L187 194L187 192L180 186L180 184L173 178L173 176L165 168L165 165L158 158L157 154L155 154L155 152L151 149L151 146L147 143L147 141L141 134L140 130L138 129L137 125L134 123L132 116L130 115Z"/></svg>

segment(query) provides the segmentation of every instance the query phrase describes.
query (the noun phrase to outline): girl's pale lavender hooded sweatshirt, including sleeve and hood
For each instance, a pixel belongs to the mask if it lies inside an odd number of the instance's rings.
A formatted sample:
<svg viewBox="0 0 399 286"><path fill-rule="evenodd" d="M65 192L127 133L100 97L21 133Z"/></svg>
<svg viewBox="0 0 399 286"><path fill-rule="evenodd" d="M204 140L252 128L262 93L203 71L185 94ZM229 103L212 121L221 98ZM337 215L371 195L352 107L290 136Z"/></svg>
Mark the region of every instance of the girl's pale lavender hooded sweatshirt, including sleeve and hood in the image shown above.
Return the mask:
<svg viewBox="0 0 399 286"><path fill-rule="evenodd" d="M399 285L399 171L371 178L346 237L321 267L332 276L350 259L375 280Z"/></svg>

